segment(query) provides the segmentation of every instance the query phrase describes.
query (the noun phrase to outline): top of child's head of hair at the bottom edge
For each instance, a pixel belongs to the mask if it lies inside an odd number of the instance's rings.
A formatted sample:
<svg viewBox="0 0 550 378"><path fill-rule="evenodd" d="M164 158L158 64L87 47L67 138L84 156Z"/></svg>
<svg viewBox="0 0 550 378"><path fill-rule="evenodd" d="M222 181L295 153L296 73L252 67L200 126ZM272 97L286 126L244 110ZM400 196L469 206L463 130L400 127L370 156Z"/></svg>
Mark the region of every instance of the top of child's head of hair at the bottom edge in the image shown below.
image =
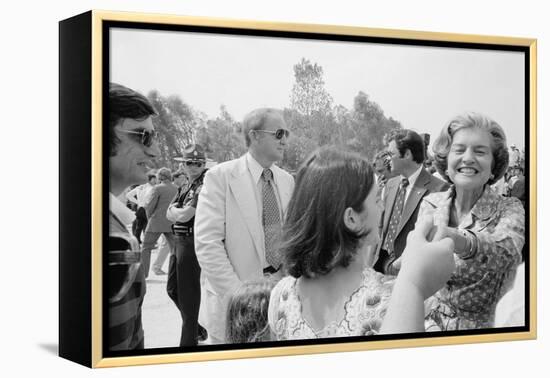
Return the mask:
<svg viewBox="0 0 550 378"><path fill-rule="evenodd" d="M269 341L269 297L276 281L246 281L232 293L227 305L226 339L230 343Z"/></svg>

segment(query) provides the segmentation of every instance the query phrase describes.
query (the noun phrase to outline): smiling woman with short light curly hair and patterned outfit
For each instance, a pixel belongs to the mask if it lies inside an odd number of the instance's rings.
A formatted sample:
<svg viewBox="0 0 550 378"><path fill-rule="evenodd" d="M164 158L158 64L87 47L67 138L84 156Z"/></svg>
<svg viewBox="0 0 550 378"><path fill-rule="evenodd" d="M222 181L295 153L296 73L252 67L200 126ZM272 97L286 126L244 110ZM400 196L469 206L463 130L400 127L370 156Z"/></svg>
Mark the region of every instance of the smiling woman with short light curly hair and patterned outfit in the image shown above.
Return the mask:
<svg viewBox="0 0 550 378"><path fill-rule="evenodd" d="M443 128L433 150L438 171L454 185L427 196L418 219L432 216L436 237L453 239L457 267L428 300L426 330L490 328L525 241L521 203L490 186L508 168L506 136L495 121L469 113Z"/></svg>

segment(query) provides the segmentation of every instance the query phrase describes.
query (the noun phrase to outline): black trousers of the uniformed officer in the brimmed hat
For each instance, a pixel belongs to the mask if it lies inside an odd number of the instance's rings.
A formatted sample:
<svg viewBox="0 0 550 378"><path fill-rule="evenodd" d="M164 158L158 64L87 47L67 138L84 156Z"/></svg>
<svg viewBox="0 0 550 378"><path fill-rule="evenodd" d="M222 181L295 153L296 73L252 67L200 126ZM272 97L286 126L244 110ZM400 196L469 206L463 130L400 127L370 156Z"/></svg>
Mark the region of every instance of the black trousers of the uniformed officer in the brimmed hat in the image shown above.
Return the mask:
<svg viewBox="0 0 550 378"><path fill-rule="evenodd" d="M181 315L180 346L197 345L201 302L201 268L193 235L175 236L175 254L170 256L166 291Z"/></svg>

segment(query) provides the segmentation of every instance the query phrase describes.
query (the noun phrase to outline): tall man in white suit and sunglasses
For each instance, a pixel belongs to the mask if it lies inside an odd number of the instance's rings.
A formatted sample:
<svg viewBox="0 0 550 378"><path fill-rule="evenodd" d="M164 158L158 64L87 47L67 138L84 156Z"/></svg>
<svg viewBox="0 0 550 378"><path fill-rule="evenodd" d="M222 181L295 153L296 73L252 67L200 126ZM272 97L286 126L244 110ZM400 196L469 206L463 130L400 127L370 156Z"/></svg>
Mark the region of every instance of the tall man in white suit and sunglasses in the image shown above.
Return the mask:
<svg viewBox="0 0 550 378"><path fill-rule="evenodd" d="M243 134L248 153L206 173L195 214L195 249L204 275L199 321L212 344L226 342L231 293L244 281L280 269L266 258L264 185L274 188L281 225L294 188L292 176L274 165L283 158L288 138L281 111L262 108L249 113ZM266 169L272 175L269 184L262 176Z"/></svg>

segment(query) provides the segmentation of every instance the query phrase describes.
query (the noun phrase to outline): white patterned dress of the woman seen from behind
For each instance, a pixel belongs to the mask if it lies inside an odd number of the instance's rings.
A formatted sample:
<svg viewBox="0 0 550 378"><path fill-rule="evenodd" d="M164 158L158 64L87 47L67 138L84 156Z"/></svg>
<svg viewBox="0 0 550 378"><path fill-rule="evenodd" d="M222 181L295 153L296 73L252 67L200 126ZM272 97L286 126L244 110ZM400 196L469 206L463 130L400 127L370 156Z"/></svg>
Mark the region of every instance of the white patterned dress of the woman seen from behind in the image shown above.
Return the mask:
<svg viewBox="0 0 550 378"><path fill-rule="evenodd" d="M361 285L345 303L344 317L314 330L302 316L297 279L283 278L271 293L269 325L276 340L364 336L378 333L389 304L395 277L366 268Z"/></svg>

